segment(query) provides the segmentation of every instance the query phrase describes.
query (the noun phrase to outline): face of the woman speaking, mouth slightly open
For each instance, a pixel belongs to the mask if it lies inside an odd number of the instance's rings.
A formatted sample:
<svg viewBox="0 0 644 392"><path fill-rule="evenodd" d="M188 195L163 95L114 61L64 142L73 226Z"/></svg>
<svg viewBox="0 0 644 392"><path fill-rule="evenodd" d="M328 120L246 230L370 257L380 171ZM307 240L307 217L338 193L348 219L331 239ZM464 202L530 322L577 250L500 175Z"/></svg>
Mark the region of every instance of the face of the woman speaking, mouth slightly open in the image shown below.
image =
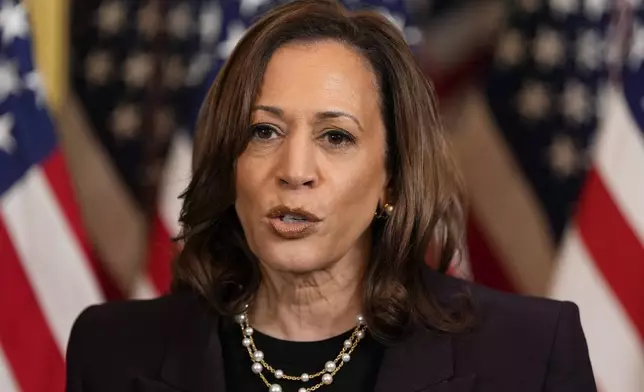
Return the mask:
<svg viewBox="0 0 644 392"><path fill-rule="evenodd" d="M287 45L269 61L235 173L235 208L265 267L369 257L387 183L378 97L366 60L334 41Z"/></svg>

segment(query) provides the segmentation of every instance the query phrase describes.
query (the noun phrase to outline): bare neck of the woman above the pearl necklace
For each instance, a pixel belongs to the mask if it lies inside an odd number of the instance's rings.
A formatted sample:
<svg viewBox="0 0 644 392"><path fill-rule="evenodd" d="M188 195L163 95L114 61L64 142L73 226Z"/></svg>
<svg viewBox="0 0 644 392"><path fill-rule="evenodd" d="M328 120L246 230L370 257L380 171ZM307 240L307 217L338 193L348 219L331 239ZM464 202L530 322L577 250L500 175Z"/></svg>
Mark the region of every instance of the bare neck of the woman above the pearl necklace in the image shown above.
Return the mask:
<svg viewBox="0 0 644 392"><path fill-rule="evenodd" d="M262 284L249 309L253 328L278 339L315 341L356 325L362 313L365 262L346 260L305 274L262 267Z"/></svg>

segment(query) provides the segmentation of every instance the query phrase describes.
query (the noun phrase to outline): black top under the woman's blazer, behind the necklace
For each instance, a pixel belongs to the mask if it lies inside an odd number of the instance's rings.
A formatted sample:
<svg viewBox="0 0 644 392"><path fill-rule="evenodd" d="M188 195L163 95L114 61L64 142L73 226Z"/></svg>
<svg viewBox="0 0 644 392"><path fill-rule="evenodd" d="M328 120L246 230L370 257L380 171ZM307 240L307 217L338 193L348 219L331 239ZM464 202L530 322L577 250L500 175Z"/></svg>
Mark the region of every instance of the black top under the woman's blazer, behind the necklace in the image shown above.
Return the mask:
<svg viewBox="0 0 644 392"><path fill-rule="evenodd" d="M353 329L339 336L317 342L290 342L265 335L257 330L253 339L258 350L264 353L266 362L286 374L299 376L313 374L324 368L324 364L336 358L342 344L351 336ZM252 361L242 346L241 329L233 320L222 319L219 330L226 392L266 392L268 388L258 375L251 371ZM331 385L320 391L371 392L382 360L383 347L369 334L362 339L351 354L351 360L342 366ZM308 383L276 380L268 371L263 372L269 382L282 386L284 392L297 392L301 387L311 387L321 380L316 378Z"/></svg>

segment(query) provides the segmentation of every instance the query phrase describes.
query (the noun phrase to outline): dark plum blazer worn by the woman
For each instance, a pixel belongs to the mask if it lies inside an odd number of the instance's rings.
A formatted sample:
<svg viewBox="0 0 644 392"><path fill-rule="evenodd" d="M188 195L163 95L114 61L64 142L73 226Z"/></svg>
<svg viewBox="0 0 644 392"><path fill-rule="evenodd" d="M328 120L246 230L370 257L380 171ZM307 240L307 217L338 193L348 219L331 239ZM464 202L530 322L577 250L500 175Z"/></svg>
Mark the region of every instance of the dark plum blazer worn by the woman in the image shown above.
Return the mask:
<svg viewBox="0 0 644 392"><path fill-rule="evenodd" d="M479 326L461 337L418 328L386 348L375 392L596 391L576 305L429 269L424 279L443 302L468 289ZM70 337L67 392L225 392L217 325L189 292L90 307Z"/></svg>

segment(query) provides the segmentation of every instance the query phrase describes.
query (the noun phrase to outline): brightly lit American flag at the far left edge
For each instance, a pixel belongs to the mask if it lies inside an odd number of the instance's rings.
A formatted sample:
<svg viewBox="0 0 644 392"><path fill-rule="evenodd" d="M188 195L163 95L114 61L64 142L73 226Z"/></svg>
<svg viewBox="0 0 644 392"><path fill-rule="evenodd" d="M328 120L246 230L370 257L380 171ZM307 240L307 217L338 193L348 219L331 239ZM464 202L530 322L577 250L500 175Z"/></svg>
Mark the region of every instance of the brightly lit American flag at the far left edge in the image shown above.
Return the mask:
<svg viewBox="0 0 644 392"><path fill-rule="evenodd" d="M78 313L103 300L34 69L26 12L0 4L0 390L64 388Z"/></svg>

